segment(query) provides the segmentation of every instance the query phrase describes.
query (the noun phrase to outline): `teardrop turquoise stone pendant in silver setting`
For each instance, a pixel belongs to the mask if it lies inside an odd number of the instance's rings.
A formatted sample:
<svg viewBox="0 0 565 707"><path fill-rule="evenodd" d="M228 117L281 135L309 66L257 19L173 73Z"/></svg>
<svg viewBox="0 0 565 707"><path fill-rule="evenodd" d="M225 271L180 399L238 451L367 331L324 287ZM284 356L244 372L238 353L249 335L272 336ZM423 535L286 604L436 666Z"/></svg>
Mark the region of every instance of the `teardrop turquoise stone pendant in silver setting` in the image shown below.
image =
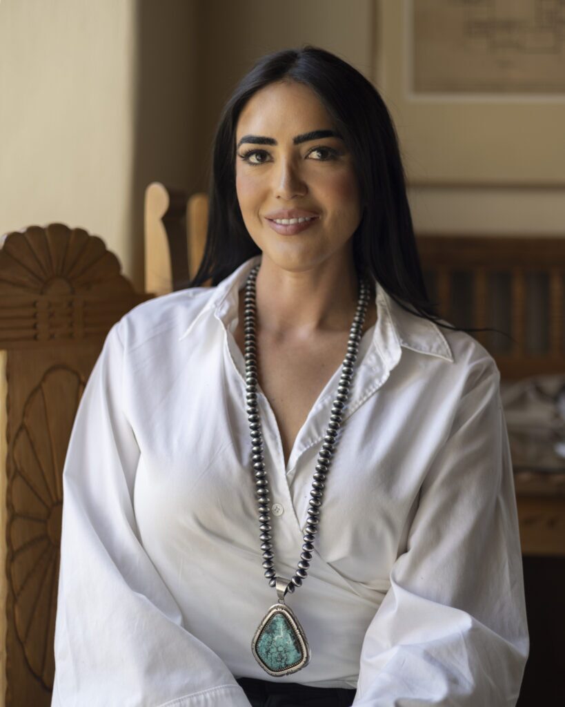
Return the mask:
<svg viewBox="0 0 565 707"><path fill-rule="evenodd" d="M259 624L251 643L259 665L275 677L302 670L310 662L310 648L292 609L282 598Z"/></svg>

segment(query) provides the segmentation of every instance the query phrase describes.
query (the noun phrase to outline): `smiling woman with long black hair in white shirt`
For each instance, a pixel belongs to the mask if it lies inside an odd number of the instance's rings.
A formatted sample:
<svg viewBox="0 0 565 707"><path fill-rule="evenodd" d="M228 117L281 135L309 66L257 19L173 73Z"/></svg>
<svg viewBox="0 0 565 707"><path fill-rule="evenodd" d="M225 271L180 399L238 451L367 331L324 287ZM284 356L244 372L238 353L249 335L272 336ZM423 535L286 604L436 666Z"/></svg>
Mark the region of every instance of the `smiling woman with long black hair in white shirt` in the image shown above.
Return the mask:
<svg viewBox="0 0 565 707"><path fill-rule="evenodd" d="M53 704L515 704L499 371L434 315L352 66L307 46L243 78L189 285L112 327L81 399Z"/></svg>

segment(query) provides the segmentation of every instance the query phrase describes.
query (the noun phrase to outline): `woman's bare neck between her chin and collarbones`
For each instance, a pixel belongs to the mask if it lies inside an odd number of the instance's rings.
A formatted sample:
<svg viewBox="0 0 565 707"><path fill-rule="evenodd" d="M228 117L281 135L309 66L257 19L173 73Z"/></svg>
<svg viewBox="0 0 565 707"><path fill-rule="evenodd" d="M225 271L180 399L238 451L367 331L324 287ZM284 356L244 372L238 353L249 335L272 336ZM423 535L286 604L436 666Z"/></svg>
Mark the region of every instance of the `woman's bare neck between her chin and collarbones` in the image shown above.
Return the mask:
<svg viewBox="0 0 565 707"><path fill-rule="evenodd" d="M353 260L328 261L321 267L290 271L261 259L256 280L257 323L278 339L307 340L316 334L351 327L359 297Z"/></svg>

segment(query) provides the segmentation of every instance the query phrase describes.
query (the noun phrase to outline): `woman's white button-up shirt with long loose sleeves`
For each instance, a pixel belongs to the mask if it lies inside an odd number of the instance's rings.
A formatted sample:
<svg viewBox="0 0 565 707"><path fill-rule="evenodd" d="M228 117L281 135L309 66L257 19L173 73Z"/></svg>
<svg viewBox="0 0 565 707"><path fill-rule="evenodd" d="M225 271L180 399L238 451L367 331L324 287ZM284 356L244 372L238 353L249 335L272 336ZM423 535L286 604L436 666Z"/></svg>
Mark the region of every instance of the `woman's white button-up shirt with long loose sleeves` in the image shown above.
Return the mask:
<svg viewBox="0 0 565 707"><path fill-rule="evenodd" d="M236 677L356 688L355 707L515 704L528 630L499 370L468 334L405 312L378 284L309 574L287 595L311 662L276 678L254 660L277 597L233 332L260 259L138 305L107 335L64 464L52 704L249 707ZM286 465L258 386L287 578L339 378Z"/></svg>

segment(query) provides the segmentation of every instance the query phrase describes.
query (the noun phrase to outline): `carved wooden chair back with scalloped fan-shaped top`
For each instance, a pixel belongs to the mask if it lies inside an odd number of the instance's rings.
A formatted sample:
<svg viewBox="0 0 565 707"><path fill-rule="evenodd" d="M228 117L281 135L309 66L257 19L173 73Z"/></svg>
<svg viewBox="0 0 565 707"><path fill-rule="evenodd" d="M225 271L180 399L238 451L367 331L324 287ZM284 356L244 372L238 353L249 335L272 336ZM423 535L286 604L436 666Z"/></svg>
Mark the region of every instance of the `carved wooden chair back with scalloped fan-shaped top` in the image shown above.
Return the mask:
<svg viewBox="0 0 565 707"><path fill-rule="evenodd" d="M153 297L135 293L120 270L82 228L51 223L0 239L2 705L51 703L71 427L110 327Z"/></svg>

